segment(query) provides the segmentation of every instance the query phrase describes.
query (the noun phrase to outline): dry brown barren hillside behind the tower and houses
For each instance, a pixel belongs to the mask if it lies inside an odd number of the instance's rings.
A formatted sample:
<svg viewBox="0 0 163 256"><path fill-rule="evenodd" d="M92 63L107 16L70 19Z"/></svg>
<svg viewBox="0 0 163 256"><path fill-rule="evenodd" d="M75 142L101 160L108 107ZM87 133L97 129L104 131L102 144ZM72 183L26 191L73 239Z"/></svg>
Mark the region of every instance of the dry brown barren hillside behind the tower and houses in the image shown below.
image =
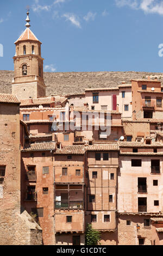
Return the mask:
<svg viewBox="0 0 163 256"><path fill-rule="evenodd" d="M116 87L122 81L130 83L131 79L146 78L156 75L163 85L162 73L148 72L45 72L47 96L55 94L84 93L85 88ZM0 70L0 93L11 93L11 81L14 71Z"/></svg>

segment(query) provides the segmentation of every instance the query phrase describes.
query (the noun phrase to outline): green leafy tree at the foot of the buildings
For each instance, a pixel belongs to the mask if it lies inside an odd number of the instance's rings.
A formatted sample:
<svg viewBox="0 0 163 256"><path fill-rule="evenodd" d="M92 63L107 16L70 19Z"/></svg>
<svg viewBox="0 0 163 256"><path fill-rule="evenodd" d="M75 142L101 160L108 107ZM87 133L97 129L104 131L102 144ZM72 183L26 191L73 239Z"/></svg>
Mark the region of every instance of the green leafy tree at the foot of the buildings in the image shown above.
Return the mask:
<svg viewBox="0 0 163 256"><path fill-rule="evenodd" d="M100 245L101 233L92 228L92 224L87 223L85 233L85 245Z"/></svg>

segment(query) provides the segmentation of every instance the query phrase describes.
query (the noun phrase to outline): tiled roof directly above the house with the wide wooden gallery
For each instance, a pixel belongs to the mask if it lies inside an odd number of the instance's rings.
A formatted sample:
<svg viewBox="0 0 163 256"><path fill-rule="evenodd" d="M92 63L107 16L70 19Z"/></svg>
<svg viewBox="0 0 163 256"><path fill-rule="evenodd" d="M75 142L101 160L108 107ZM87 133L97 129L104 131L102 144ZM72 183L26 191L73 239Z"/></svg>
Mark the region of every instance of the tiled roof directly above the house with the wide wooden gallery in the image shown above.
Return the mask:
<svg viewBox="0 0 163 256"><path fill-rule="evenodd" d="M67 154L72 154L72 155L83 155L85 153L85 146L84 145L70 145L70 146L65 146L62 149L57 149L55 151L55 154L57 155L67 155Z"/></svg>

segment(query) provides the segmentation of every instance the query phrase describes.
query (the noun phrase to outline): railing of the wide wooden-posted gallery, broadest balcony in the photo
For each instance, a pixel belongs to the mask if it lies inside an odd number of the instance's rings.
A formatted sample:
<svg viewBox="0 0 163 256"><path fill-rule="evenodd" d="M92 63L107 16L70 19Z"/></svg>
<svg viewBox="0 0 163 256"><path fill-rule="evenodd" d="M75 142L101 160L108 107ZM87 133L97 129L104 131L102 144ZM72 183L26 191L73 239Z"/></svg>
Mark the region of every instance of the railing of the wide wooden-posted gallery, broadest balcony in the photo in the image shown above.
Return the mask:
<svg viewBox="0 0 163 256"><path fill-rule="evenodd" d="M83 201L55 201L55 209L83 209Z"/></svg>

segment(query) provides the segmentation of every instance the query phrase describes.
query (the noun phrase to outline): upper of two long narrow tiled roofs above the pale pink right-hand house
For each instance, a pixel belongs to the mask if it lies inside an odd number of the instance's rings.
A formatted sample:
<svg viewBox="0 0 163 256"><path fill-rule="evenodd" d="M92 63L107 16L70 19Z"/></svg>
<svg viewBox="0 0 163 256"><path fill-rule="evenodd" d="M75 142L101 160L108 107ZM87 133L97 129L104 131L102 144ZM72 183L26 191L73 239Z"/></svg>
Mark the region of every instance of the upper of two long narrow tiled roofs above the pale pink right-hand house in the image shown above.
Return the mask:
<svg viewBox="0 0 163 256"><path fill-rule="evenodd" d="M155 148L155 147L163 147L163 143L154 142L152 144L145 144L143 142L118 142L120 148Z"/></svg>

